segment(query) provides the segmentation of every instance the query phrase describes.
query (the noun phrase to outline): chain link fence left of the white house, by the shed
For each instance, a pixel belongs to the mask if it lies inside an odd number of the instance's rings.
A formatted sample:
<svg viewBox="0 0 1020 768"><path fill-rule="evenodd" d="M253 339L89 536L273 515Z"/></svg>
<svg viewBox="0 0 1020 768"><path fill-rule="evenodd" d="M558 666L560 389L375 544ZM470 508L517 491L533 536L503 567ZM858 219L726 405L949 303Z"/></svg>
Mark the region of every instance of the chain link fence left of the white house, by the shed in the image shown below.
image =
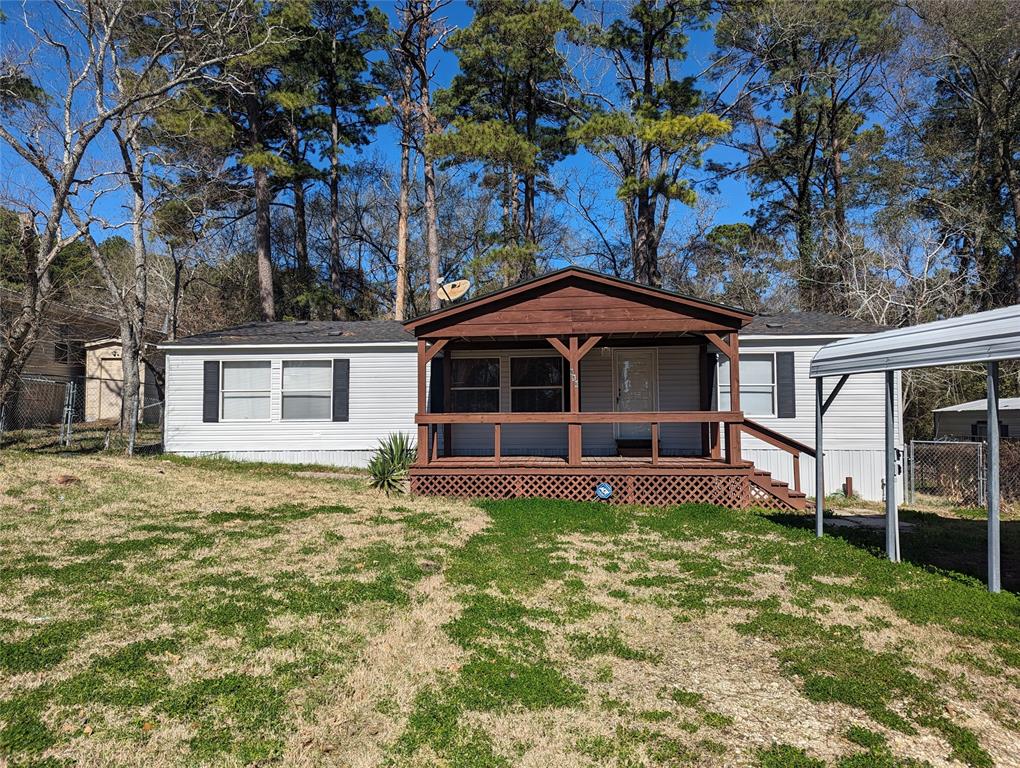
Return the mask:
<svg viewBox="0 0 1020 768"><path fill-rule="evenodd" d="M29 451L97 451L126 445L117 418L86 421L88 389L81 377L22 375L14 395L0 406L0 448ZM158 451L162 445L163 402L146 392L137 452Z"/></svg>

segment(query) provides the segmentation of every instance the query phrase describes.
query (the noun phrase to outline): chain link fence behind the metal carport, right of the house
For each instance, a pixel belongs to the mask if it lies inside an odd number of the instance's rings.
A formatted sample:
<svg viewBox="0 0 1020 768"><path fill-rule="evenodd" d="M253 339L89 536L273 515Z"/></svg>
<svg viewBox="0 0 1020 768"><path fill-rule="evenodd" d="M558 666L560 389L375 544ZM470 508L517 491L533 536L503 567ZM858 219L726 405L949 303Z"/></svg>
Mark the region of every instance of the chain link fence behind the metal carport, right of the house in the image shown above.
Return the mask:
<svg viewBox="0 0 1020 768"><path fill-rule="evenodd" d="M907 453L908 501L983 507L987 461L984 443L911 441ZM1020 503L1020 440L1000 442L999 482L1005 503Z"/></svg>

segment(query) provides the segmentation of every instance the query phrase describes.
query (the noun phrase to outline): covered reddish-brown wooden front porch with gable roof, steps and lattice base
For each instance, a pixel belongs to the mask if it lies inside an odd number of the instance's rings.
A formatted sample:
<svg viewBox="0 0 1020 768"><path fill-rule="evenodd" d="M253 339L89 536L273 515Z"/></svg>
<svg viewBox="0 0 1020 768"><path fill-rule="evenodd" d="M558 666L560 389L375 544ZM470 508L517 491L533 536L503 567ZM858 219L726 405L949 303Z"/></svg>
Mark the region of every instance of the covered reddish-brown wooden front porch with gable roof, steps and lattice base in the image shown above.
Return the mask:
<svg viewBox="0 0 1020 768"><path fill-rule="evenodd" d="M741 410L750 319L569 268L412 320L412 489L589 500L601 484L607 501L800 508L799 488L741 456L744 432L795 462L810 451Z"/></svg>

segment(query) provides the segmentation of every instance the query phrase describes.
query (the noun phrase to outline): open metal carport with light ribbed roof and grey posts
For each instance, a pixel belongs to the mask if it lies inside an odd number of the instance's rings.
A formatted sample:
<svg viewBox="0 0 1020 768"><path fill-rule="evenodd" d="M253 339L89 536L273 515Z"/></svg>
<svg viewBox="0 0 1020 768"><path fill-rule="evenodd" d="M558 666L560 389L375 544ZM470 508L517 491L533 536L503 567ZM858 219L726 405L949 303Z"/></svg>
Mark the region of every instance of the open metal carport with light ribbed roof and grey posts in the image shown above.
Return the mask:
<svg viewBox="0 0 1020 768"><path fill-rule="evenodd" d="M825 459L822 431L825 411L854 373L885 373L885 551L900 560L896 500L895 375L898 370L937 365L984 363L987 366L988 420L988 590L999 592L999 363L1020 359L1020 305L936 320L906 328L846 339L822 347L811 361L815 379L815 532L822 535ZM824 378L838 376L825 397Z"/></svg>

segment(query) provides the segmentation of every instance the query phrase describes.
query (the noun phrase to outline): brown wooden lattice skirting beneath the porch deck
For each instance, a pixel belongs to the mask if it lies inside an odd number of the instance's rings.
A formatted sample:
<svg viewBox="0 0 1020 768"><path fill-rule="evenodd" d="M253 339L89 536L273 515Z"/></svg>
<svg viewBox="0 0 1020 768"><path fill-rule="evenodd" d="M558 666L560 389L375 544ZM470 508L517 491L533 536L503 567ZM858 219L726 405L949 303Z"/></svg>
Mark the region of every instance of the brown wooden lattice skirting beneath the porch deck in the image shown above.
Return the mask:
<svg viewBox="0 0 1020 768"><path fill-rule="evenodd" d="M755 487L744 474L443 474L412 471L411 491L422 496L471 499L567 499L596 501L596 485L608 482L617 504L665 506L718 504L744 508L752 504ZM760 491L760 489L759 489ZM786 505L775 497L772 502ZM755 506L769 506L754 499Z"/></svg>

